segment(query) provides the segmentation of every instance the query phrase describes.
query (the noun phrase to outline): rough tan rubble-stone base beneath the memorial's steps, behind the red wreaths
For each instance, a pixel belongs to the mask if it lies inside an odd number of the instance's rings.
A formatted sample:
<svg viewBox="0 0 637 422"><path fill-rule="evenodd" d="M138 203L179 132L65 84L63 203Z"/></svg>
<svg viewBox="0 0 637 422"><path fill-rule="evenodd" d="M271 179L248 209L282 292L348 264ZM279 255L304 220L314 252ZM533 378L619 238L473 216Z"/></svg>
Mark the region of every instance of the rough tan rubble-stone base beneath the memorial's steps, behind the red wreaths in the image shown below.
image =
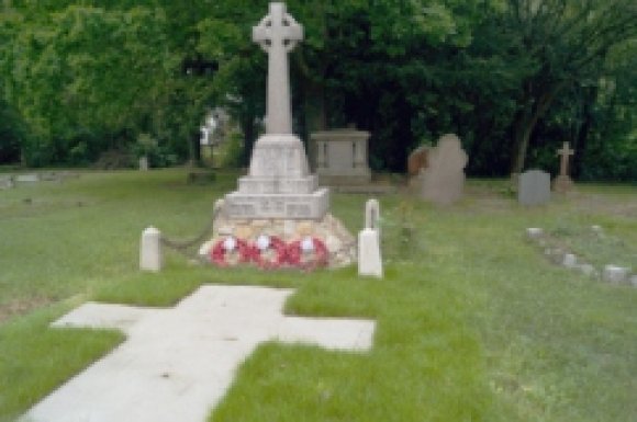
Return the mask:
<svg viewBox="0 0 637 422"><path fill-rule="evenodd" d="M217 203L215 207L223 210L227 204ZM329 252L328 266L342 267L356 262L356 238L343 223L326 213L320 219L280 219L280 218L230 218L225 212L216 214L212 239L199 250L202 260L208 261L214 244L233 236L246 241L255 241L260 235L277 236L286 242L313 237L322 240Z"/></svg>

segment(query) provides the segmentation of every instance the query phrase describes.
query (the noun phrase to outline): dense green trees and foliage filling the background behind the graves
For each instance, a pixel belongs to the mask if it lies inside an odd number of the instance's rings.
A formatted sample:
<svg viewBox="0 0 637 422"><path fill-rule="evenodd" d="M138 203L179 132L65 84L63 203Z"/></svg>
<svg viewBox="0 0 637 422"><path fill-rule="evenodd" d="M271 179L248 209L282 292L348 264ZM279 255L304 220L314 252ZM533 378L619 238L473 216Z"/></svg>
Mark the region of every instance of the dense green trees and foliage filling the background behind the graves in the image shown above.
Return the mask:
<svg viewBox="0 0 637 422"><path fill-rule="evenodd" d="M556 169L635 180L634 1L290 0L294 130L370 130L373 170L403 171L421 139L457 133L472 174ZM243 132L265 114L266 55L250 39L266 2L13 1L0 5L1 152L85 166L157 140L157 164L198 161L206 110ZM1 104L1 102L0 102ZM7 119L4 119L7 118ZM4 123L5 122L5 123Z"/></svg>

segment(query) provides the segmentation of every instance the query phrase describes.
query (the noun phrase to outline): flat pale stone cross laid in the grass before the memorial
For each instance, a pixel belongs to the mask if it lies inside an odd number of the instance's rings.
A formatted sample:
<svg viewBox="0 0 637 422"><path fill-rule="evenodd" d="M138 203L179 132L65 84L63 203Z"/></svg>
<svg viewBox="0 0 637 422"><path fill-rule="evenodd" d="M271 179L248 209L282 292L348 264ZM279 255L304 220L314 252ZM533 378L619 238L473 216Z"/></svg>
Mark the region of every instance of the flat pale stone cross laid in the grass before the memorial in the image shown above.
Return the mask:
<svg viewBox="0 0 637 422"><path fill-rule="evenodd" d="M203 286L171 309L82 305L54 326L118 328L128 340L36 404L24 421L204 422L259 343L371 347L373 321L283 316L292 292Z"/></svg>

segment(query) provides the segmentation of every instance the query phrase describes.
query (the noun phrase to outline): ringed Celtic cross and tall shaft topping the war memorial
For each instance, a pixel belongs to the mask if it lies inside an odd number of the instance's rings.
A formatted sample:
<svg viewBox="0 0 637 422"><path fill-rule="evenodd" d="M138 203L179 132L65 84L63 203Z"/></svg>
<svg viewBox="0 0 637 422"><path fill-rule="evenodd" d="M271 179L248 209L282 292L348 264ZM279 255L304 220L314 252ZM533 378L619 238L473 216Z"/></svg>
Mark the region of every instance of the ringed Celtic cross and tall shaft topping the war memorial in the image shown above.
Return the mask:
<svg viewBox="0 0 637 422"><path fill-rule="evenodd" d="M253 27L253 41L268 53L266 133L292 133L288 53L303 39L303 27L286 13L284 3L270 3L270 13Z"/></svg>

